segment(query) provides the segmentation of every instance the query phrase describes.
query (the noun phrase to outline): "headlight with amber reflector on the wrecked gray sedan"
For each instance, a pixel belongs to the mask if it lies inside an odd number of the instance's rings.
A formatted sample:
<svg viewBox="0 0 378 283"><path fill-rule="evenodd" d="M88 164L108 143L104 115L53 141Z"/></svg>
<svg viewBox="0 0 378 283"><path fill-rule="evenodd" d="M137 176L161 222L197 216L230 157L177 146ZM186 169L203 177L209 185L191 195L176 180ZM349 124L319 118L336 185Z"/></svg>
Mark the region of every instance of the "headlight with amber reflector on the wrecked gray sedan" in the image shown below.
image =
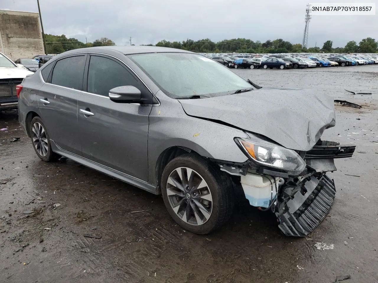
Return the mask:
<svg viewBox="0 0 378 283"><path fill-rule="evenodd" d="M298 175L306 168L305 161L292 149L256 136L249 139L235 138L235 141L244 153L258 164L286 171L291 175Z"/></svg>

